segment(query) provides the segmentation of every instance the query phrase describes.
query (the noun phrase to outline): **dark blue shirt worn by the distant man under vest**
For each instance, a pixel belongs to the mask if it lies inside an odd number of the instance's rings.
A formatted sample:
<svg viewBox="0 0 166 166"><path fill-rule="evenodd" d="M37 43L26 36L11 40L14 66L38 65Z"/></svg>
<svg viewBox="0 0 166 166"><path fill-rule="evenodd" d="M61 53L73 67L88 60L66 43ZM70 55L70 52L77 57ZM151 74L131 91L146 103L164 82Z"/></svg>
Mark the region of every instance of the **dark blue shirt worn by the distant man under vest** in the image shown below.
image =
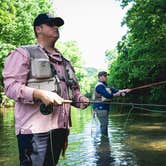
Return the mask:
<svg viewBox="0 0 166 166"><path fill-rule="evenodd" d="M109 88L110 92L106 88ZM118 89L108 87L106 82L100 82L99 84L97 84L95 90L97 93L107 99L112 99L113 94L119 91ZM93 104L94 110L109 110L109 108L110 104L106 104L102 101Z"/></svg>

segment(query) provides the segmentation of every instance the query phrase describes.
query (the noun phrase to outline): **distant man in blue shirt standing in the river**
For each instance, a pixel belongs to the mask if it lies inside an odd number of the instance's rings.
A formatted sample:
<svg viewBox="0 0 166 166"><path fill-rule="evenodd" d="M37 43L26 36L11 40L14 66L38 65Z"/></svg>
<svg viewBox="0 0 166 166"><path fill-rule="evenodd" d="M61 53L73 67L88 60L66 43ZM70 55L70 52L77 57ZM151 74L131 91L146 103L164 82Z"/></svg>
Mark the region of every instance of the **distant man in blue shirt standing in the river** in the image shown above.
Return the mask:
<svg viewBox="0 0 166 166"><path fill-rule="evenodd" d="M115 96L120 96L122 93L129 92L129 89L118 90L108 87L107 75L108 73L106 71L100 71L98 73L98 83L95 86L93 94L93 99L95 101L99 101L93 104L93 110L100 121L100 130L103 136L108 136L108 113L110 109L110 99Z"/></svg>

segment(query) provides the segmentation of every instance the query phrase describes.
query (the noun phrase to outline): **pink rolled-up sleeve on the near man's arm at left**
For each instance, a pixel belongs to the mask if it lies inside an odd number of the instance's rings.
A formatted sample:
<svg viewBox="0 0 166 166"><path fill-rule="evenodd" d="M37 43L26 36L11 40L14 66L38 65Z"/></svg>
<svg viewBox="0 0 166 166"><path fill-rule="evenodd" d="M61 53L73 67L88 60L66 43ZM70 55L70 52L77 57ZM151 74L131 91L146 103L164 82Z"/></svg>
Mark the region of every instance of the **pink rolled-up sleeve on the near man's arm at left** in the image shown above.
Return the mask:
<svg viewBox="0 0 166 166"><path fill-rule="evenodd" d="M11 52L5 61L3 78L5 94L19 102L33 103L33 88L26 82L30 71L30 56L23 48Z"/></svg>

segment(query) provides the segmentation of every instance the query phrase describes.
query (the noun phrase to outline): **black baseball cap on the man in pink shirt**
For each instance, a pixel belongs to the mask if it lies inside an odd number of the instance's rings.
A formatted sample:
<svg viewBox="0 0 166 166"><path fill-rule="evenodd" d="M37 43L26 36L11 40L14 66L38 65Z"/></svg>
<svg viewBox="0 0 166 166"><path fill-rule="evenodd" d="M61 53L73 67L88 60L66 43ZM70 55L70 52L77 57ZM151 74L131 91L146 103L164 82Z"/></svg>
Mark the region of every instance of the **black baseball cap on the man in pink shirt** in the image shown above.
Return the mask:
<svg viewBox="0 0 166 166"><path fill-rule="evenodd" d="M64 24L64 20L62 18L54 17L49 13L42 13L35 18L33 26L40 26L49 22L54 22L54 24L58 27Z"/></svg>

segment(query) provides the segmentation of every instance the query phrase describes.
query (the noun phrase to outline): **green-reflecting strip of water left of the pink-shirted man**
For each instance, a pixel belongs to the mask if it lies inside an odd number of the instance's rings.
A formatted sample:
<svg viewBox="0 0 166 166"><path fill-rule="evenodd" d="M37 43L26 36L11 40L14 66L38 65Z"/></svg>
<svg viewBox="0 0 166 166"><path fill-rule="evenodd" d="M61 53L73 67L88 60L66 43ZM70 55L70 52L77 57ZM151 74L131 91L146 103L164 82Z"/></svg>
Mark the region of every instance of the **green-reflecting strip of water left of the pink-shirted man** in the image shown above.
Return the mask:
<svg viewBox="0 0 166 166"><path fill-rule="evenodd" d="M0 110L0 166L17 166L13 109Z"/></svg>

